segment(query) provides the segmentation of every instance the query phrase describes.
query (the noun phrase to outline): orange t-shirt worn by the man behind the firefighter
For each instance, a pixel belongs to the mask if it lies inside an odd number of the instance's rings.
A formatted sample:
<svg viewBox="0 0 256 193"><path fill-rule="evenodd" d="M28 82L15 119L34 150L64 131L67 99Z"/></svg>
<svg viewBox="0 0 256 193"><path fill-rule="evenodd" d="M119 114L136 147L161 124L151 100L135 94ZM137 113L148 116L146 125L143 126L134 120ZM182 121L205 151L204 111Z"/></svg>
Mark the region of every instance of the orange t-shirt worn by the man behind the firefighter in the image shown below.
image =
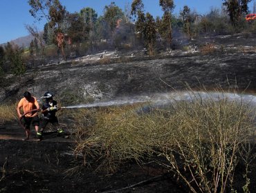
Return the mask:
<svg viewBox="0 0 256 193"><path fill-rule="evenodd" d="M29 110L39 109L39 104L37 103L37 99L35 99L34 96L31 96L30 101L28 101L24 97L19 101L18 108L23 108L23 111L27 112ZM37 112L30 112L30 113L26 114L25 116L27 116L27 117L37 116Z"/></svg>

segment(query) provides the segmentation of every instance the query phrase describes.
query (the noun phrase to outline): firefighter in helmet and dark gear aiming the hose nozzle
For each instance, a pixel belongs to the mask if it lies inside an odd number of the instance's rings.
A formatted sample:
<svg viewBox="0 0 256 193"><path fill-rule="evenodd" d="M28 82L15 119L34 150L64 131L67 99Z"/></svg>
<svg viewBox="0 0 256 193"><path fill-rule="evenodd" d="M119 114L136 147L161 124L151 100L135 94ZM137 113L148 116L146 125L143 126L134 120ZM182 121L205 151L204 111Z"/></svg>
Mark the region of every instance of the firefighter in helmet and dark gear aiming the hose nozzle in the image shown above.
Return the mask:
<svg viewBox="0 0 256 193"><path fill-rule="evenodd" d="M56 116L57 112L57 101L53 100L53 93L46 92L42 97L45 102L42 106L42 121L40 122L40 132L44 133L44 129L48 123L51 123L57 128L57 135L63 136L64 130L60 127L59 121ZM42 139L42 138L41 138Z"/></svg>

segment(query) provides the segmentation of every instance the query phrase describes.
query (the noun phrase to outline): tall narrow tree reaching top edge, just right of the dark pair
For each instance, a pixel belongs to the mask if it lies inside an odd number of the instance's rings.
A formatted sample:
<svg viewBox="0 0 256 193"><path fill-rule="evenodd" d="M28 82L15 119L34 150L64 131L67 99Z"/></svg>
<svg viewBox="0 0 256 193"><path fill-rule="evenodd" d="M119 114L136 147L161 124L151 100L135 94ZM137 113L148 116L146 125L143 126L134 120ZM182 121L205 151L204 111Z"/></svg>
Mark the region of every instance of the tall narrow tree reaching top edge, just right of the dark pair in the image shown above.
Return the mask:
<svg viewBox="0 0 256 193"><path fill-rule="evenodd" d="M167 39L170 48L172 43L172 12L175 8L173 0L159 0L159 6L162 7L164 12L163 15L163 25L165 26L165 22L168 22L169 28L166 28L166 32L164 37ZM165 26L166 27L166 26Z"/></svg>

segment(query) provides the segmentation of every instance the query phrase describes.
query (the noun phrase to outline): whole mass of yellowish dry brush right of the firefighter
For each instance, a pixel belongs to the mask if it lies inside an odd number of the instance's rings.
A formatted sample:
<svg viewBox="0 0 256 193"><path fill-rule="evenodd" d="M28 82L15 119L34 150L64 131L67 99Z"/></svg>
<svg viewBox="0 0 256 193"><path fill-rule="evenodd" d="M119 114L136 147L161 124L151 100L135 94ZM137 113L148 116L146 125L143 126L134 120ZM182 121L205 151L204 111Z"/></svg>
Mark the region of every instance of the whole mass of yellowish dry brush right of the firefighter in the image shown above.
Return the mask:
<svg viewBox="0 0 256 193"><path fill-rule="evenodd" d="M76 111L75 152L84 154L84 165L94 159L99 170L111 172L125 161L141 163L158 154L165 158L160 164L176 172L192 192L232 188L235 166L248 154L244 144L255 130L250 106L221 94L219 101L194 94L192 101L176 101L164 110L138 109Z"/></svg>

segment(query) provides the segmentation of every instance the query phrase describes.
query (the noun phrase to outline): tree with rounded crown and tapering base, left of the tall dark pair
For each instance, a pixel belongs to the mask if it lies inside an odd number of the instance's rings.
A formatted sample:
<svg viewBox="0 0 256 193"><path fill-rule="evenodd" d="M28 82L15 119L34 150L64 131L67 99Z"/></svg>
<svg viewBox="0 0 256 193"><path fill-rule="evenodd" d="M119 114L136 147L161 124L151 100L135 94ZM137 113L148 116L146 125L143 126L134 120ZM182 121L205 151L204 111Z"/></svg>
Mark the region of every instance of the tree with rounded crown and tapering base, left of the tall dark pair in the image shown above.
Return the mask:
<svg viewBox="0 0 256 193"><path fill-rule="evenodd" d="M109 6L105 6L104 8L104 19L107 21L109 28L111 30L112 34L112 45L113 45L113 39L116 34L116 28L118 27L118 22L120 19L124 19L124 12L116 6L114 2L111 2Z"/></svg>

